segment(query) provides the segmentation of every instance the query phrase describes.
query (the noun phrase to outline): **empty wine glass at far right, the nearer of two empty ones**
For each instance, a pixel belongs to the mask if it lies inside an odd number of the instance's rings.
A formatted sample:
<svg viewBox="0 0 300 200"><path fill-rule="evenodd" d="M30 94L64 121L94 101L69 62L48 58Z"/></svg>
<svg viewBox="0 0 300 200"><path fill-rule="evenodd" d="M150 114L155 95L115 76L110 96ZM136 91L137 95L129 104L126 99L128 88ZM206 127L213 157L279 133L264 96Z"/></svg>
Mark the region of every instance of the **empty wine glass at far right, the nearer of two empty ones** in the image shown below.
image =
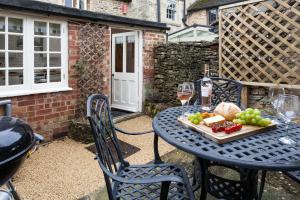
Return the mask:
<svg viewBox="0 0 300 200"><path fill-rule="evenodd" d="M299 98L295 95L279 95L277 99L277 111L282 116L286 124L286 133L289 132L289 127L293 119L297 117L299 111ZM289 136L279 138L283 144L293 145L296 141Z"/></svg>

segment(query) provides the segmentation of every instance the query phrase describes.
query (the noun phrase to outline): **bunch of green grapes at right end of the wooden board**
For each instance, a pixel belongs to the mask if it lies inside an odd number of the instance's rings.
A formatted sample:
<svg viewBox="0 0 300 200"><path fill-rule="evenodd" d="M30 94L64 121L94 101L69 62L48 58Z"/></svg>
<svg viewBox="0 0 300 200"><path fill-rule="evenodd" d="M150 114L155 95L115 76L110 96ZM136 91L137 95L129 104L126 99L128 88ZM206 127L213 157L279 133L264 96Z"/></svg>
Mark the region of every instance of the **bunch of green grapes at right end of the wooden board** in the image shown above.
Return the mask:
<svg viewBox="0 0 300 200"><path fill-rule="evenodd" d="M272 122L269 118L263 118L258 109L247 108L245 111L236 114L233 120L236 124L253 125L253 126L269 126Z"/></svg>

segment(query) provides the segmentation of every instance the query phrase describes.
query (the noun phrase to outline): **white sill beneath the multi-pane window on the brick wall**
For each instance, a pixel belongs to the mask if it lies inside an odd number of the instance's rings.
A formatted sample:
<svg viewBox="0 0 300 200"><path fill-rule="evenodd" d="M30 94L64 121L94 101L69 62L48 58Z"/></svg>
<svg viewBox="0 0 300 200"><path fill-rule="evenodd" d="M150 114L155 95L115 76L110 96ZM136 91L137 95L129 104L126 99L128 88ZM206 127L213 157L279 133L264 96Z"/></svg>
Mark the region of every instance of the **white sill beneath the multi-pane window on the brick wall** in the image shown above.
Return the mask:
<svg viewBox="0 0 300 200"><path fill-rule="evenodd" d="M62 88L51 88L51 89L12 91L12 92L5 92L5 94L0 93L0 98L25 96L25 95L33 95L33 94L43 94L43 93L66 92L66 91L72 91L72 90L73 89L70 87L62 87Z"/></svg>

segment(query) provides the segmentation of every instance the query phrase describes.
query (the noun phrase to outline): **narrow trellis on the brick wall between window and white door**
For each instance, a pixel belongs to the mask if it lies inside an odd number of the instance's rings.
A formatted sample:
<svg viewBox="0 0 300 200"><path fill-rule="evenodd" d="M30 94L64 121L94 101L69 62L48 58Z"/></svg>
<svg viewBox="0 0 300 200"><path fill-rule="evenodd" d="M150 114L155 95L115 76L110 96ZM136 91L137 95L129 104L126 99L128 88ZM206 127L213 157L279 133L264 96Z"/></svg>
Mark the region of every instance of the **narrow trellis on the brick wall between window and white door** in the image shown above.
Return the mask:
<svg viewBox="0 0 300 200"><path fill-rule="evenodd" d="M80 60L77 63L80 89L80 117L86 115L86 100L93 93L103 90L103 57L105 54L105 32L107 27L100 24L86 23L79 30ZM107 47L106 47L107 48Z"/></svg>

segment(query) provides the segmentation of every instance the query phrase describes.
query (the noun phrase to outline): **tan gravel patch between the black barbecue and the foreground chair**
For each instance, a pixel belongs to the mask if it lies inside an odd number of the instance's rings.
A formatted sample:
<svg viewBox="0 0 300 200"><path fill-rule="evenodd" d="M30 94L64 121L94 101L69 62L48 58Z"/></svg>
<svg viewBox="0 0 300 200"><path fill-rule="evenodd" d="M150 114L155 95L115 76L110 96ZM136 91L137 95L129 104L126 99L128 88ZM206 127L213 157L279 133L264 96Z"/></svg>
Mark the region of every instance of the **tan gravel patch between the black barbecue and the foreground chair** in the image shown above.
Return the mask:
<svg viewBox="0 0 300 200"><path fill-rule="evenodd" d="M39 148L15 178L23 199L76 199L92 192L103 182L94 155L85 145L70 139Z"/></svg>

